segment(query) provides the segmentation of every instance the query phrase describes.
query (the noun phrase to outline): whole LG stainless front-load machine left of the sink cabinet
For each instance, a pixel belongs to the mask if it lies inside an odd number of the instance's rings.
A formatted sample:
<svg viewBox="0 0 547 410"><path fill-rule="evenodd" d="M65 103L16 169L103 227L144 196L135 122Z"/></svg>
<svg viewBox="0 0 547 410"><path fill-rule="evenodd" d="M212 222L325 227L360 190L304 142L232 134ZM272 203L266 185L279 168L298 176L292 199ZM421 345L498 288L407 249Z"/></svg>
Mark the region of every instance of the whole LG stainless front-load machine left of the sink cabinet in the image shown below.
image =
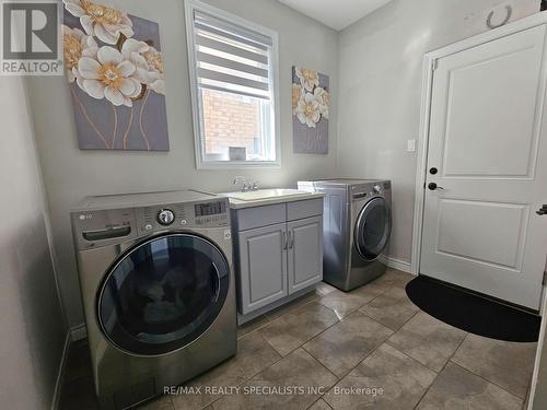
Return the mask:
<svg viewBox="0 0 547 410"><path fill-rule="evenodd" d="M71 219L102 407L130 407L235 354L226 198L92 197Z"/></svg>

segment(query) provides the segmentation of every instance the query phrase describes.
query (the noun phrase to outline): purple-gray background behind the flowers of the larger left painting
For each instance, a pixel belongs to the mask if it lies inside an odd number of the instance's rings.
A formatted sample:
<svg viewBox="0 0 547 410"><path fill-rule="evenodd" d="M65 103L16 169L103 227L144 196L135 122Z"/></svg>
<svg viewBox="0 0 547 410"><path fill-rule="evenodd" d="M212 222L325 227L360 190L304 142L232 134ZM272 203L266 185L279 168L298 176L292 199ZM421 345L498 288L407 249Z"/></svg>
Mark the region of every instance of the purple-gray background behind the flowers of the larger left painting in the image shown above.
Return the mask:
<svg viewBox="0 0 547 410"><path fill-rule="evenodd" d="M133 15L128 16L132 22L133 38L149 43L158 51L161 51L160 27L158 23ZM80 28L83 32L80 19L68 13L66 10L65 24L71 28ZM105 45L98 38L94 38L100 47ZM71 87L80 149L168 151L165 96L150 90L147 99L133 101L132 120L129 122L131 119L130 107L115 107L106 98L95 99L80 90L75 82L69 86ZM88 118L93 121L96 130L90 124L90 120L86 119L78 101L84 106ZM115 120L114 110L116 110L117 121ZM97 131L106 139L108 147L97 134Z"/></svg>

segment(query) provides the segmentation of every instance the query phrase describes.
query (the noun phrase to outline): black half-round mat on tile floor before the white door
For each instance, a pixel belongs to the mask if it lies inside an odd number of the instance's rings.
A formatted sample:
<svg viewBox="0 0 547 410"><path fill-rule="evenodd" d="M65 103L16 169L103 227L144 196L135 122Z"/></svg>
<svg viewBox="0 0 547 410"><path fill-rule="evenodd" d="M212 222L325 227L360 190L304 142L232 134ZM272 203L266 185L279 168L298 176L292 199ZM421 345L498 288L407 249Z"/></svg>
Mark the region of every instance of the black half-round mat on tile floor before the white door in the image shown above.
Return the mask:
<svg viewBox="0 0 547 410"><path fill-rule="evenodd" d="M427 314L491 339L535 342L542 318L419 276L408 282L410 301Z"/></svg>

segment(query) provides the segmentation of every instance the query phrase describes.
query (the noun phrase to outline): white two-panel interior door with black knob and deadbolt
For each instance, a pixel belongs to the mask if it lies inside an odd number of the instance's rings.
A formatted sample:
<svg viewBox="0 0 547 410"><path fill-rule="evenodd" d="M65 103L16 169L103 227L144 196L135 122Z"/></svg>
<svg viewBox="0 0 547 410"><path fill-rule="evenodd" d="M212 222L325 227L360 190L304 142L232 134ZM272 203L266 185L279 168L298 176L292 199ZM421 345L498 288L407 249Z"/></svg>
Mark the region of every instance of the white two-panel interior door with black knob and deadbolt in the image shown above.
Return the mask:
<svg viewBox="0 0 547 410"><path fill-rule="evenodd" d="M420 259L420 273L536 311L547 250L547 215L536 213L547 203L545 35L539 25L437 61Z"/></svg>

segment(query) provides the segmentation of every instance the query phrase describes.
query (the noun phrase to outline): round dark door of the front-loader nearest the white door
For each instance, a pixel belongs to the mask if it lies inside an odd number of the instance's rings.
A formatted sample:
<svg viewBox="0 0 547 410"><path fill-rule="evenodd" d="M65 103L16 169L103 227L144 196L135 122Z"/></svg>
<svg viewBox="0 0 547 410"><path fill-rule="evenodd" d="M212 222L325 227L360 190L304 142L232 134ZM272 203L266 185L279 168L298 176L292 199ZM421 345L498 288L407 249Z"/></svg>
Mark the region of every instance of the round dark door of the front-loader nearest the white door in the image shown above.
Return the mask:
<svg viewBox="0 0 547 410"><path fill-rule="evenodd" d="M392 214L382 197L371 199L357 219L354 243L365 260L376 259L389 241Z"/></svg>

